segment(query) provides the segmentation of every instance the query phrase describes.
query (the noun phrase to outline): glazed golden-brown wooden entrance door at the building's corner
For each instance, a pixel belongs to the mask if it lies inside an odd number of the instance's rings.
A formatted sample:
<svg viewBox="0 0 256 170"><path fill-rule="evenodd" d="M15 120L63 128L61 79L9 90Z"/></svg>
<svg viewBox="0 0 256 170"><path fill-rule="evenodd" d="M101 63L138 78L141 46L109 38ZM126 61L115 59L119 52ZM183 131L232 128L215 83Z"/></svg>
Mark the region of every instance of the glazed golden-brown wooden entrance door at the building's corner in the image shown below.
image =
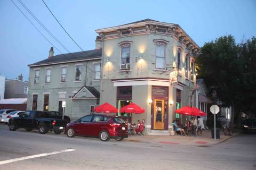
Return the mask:
<svg viewBox="0 0 256 170"><path fill-rule="evenodd" d="M154 129L164 129L164 100L154 99Z"/></svg>

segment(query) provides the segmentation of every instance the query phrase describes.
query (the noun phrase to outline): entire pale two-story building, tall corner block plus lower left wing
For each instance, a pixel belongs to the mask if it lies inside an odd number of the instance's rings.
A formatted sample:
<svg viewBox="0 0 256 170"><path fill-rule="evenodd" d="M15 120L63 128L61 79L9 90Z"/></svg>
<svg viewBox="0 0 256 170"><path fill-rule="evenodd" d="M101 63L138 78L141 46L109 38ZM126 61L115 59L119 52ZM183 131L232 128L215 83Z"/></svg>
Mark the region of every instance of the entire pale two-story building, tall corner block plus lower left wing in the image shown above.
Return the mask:
<svg viewBox="0 0 256 170"><path fill-rule="evenodd" d="M143 114L118 113L132 123L146 120L148 134L168 133L176 108L195 106L196 43L178 25L150 19L98 29L96 49L53 55L30 64L28 109L62 112L74 119L108 102L118 110L133 102ZM170 72L178 84L170 85ZM189 88L190 87L190 88ZM190 94L190 95L189 95ZM189 100L189 98L191 98Z"/></svg>

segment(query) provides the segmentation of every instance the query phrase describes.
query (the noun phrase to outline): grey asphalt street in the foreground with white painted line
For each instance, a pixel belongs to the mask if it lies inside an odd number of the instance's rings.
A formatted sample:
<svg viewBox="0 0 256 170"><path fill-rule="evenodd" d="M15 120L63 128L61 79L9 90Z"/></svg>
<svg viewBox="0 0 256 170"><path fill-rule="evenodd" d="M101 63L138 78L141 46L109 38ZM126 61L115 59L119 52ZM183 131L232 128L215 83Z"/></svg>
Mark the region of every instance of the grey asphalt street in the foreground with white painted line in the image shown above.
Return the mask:
<svg viewBox="0 0 256 170"><path fill-rule="evenodd" d="M171 138L171 137L170 137ZM63 151L11 163L4 160ZM3 163L1 165L1 162ZM241 134L213 146L177 146L68 138L63 133L9 131L0 124L0 169L256 169L256 135Z"/></svg>

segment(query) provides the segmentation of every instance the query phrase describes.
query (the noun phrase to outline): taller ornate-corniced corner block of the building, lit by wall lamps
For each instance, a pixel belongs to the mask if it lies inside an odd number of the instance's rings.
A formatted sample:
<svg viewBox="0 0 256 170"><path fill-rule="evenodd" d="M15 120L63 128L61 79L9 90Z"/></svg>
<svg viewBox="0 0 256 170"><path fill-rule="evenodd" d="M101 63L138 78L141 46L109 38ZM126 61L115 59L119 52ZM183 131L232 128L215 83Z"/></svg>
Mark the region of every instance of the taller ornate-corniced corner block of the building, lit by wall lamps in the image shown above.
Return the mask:
<svg viewBox="0 0 256 170"><path fill-rule="evenodd" d="M193 89L197 44L178 24L150 19L96 32L103 52L100 103L107 101L118 110L136 103L146 113L118 115L132 123L145 119L148 134L167 134L174 118L182 121L174 114L175 109L189 102L196 105ZM179 83L170 86L174 69L178 70Z"/></svg>

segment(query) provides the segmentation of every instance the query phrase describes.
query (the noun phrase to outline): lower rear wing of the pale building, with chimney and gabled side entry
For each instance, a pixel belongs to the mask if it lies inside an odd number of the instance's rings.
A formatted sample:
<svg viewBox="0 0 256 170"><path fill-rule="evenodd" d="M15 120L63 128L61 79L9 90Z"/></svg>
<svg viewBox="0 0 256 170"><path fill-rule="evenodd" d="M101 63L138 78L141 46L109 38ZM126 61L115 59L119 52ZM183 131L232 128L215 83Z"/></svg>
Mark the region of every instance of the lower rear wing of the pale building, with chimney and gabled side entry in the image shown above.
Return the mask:
<svg viewBox="0 0 256 170"><path fill-rule="evenodd" d="M63 112L73 120L92 113L99 103L101 49L53 55L28 65L28 110Z"/></svg>

